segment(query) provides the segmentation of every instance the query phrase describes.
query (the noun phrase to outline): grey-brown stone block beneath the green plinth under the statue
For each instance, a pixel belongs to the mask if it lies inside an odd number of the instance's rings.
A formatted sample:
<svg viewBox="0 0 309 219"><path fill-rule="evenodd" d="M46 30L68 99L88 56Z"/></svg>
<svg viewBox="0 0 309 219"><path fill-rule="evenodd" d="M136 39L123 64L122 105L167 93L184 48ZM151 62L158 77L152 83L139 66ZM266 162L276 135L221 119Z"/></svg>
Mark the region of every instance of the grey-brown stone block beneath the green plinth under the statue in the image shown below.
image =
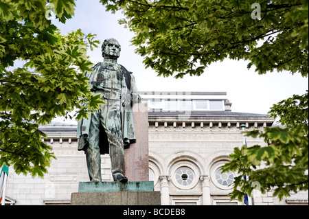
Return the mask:
<svg viewBox="0 0 309 219"><path fill-rule="evenodd" d="M78 192L71 205L161 205L160 192Z"/></svg>

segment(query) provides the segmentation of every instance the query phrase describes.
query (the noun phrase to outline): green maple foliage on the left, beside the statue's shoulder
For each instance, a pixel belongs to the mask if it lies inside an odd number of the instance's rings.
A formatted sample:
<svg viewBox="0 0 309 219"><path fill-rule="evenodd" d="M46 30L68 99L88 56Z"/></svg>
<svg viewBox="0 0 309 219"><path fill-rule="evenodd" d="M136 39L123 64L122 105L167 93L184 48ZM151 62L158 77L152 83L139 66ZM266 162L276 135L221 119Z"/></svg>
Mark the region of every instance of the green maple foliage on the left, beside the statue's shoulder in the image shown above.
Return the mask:
<svg viewBox="0 0 309 219"><path fill-rule="evenodd" d="M73 0L49 3L63 23L73 15ZM75 109L77 119L87 117L102 104L84 77L87 49L99 42L80 30L62 36L50 10L45 0L0 1L0 166L17 174L43 176L55 158L38 126Z"/></svg>

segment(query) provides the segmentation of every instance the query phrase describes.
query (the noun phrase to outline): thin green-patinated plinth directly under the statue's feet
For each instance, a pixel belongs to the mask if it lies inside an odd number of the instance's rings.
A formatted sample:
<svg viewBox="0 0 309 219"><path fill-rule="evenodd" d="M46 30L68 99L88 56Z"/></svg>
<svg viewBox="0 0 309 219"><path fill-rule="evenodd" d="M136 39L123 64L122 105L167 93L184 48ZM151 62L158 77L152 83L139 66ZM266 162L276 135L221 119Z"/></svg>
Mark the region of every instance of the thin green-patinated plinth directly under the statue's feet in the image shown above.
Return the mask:
<svg viewBox="0 0 309 219"><path fill-rule="evenodd" d="M80 182L78 192L153 192L153 181L119 182Z"/></svg>

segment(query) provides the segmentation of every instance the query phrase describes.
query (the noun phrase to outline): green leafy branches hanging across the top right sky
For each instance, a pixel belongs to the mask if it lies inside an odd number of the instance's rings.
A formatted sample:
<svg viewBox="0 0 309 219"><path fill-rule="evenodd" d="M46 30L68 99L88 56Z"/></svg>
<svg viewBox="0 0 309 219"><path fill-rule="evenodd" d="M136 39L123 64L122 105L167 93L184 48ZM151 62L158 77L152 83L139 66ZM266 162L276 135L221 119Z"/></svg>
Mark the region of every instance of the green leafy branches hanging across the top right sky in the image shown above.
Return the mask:
<svg viewBox="0 0 309 219"><path fill-rule="evenodd" d="M199 76L225 58L249 60L260 74L308 75L308 0L100 1L106 10L124 10L120 23L135 32L137 53L160 76Z"/></svg>

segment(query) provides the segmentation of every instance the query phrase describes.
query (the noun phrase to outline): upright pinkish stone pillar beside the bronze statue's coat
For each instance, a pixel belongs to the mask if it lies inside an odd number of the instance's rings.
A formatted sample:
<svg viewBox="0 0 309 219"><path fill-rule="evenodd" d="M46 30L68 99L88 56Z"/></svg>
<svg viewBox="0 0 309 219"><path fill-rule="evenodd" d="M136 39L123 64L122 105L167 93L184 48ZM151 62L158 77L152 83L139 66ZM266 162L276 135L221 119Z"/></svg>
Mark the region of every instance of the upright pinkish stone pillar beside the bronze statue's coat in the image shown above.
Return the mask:
<svg viewBox="0 0 309 219"><path fill-rule="evenodd" d="M133 105L136 143L124 150L124 175L128 181L149 181L148 106Z"/></svg>

